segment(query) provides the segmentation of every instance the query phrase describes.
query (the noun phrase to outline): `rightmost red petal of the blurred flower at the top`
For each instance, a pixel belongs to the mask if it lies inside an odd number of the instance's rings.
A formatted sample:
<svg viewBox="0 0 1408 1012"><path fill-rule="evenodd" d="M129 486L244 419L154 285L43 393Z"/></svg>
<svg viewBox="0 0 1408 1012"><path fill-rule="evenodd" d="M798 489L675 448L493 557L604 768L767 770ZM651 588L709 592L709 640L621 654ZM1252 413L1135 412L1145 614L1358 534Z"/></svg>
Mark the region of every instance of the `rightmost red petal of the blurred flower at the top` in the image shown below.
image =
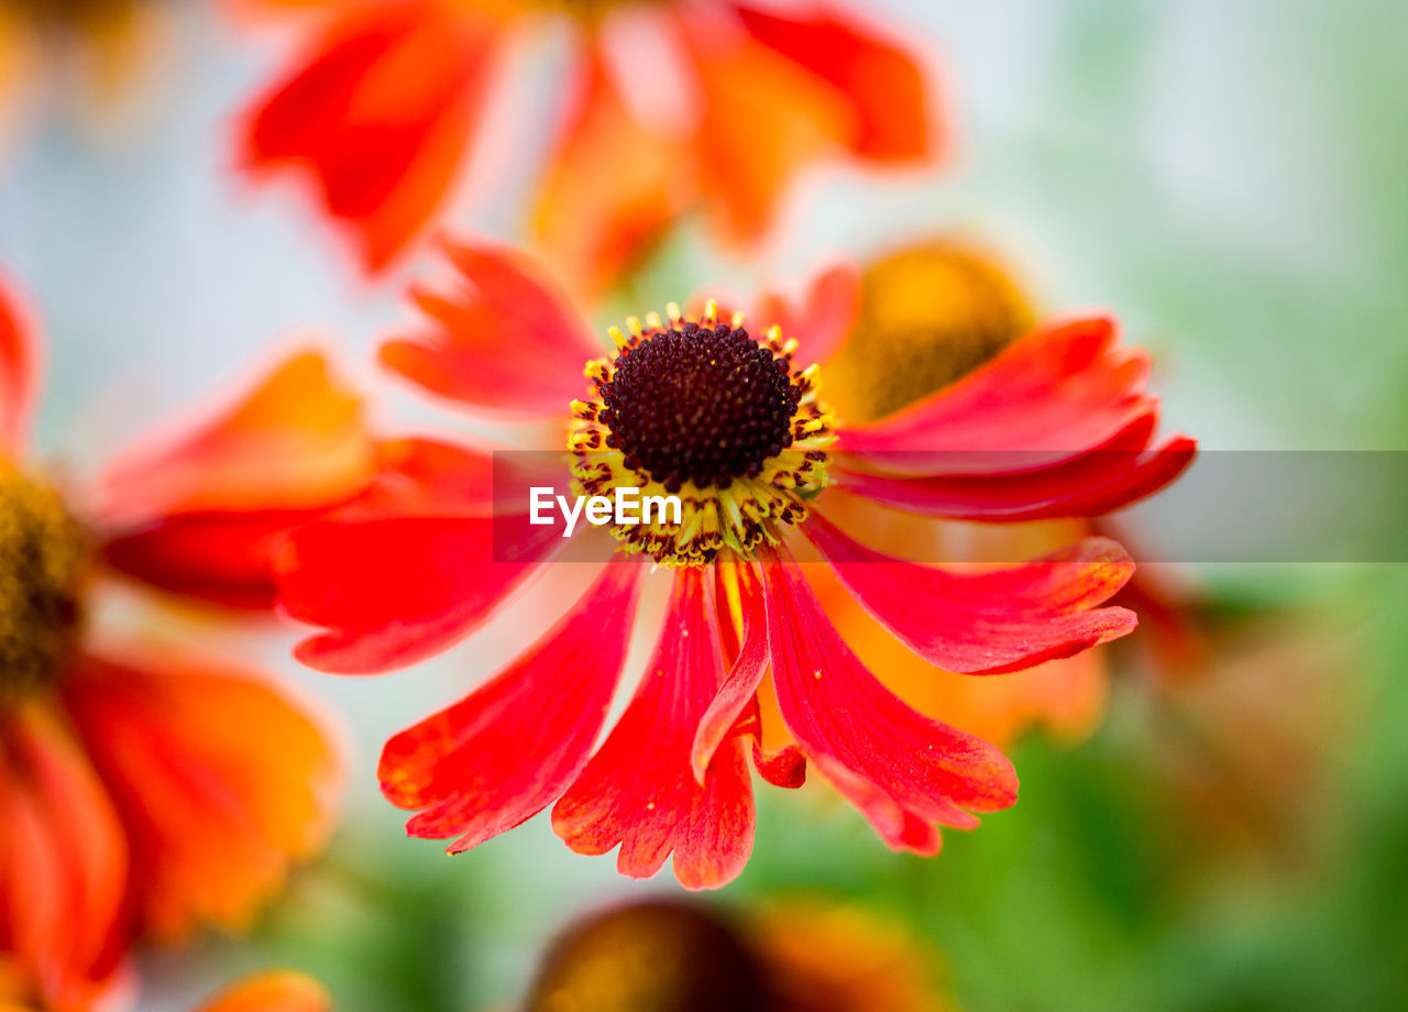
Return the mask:
<svg viewBox="0 0 1408 1012"><path fill-rule="evenodd" d="M760 42L829 84L849 107L846 146L872 162L918 162L936 148L924 73L895 42L825 4L770 13L738 4Z"/></svg>

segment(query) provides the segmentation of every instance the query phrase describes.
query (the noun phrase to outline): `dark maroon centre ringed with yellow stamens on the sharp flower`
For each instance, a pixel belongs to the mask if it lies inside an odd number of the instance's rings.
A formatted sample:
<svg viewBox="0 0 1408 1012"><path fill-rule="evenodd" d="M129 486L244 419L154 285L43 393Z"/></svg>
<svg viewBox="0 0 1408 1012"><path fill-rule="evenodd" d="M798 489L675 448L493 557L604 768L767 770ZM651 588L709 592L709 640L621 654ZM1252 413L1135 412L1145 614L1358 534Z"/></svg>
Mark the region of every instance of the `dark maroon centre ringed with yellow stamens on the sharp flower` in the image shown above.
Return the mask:
<svg viewBox="0 0 1408 1012"><path fill-rule="evenodd" d="M628 550L663 564L712 562L724 549L748 556L777 543L779 528L807 517L803 500L825 484L831 417L817 403L817 369L797 372L774 327L762 339L742 314L701 320L669 307L631 334L611 328L614 359L590 362L594 400L573 401L569 441L579 494L618 487L677 495L680 522L615 525Z"/></svg>

